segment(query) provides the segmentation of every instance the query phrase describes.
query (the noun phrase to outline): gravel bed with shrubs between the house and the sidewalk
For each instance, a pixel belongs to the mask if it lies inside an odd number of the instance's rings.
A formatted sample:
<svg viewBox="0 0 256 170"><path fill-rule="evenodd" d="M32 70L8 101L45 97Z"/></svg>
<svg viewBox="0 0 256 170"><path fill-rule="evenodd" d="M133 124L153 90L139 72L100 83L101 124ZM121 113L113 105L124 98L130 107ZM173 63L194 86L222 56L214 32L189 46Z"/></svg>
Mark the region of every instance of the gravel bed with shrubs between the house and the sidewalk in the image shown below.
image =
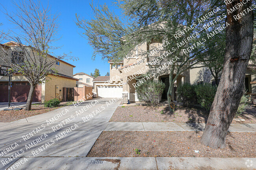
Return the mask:
<svg viewBox="0 0 256 170"><path fill-rule="evenodd" d="M245 119L243 123L256 123L256 107L250 105L246 112L236 118ZM119 106L109 122L187 122L206 123L208 113L203 108L183 108L176 106L170 113L168 106ZM240 123L233 121L232 123Z"/></svg>

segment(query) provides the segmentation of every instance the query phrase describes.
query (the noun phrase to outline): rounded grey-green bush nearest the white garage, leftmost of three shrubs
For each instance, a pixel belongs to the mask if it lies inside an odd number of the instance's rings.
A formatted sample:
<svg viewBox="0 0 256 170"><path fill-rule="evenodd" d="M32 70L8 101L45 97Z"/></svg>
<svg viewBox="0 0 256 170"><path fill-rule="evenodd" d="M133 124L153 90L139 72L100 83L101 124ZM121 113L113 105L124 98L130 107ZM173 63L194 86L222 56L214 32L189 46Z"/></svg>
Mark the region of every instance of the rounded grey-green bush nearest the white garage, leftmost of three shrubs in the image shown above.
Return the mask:
<svg viewBox="0 0 256 170"><path fill-rule="evenodd" d="M148 80L136 88L139 101L145 101L149 106L157 106L161 101L161 96L165 84L158 80Z"/></svg>

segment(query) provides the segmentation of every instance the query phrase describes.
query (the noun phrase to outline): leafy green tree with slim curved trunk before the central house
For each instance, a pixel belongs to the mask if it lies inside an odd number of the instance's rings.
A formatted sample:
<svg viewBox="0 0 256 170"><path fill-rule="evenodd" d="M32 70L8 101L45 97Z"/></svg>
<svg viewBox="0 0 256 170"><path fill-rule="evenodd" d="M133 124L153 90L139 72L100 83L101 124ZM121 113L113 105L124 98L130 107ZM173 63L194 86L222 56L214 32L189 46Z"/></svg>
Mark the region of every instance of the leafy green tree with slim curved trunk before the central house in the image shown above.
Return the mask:
<svg viewBox="0 0 256 170"><path fill-rule="evenodd" d="M160 64L171 61L175 57L179 58L174 64L165 69L170 75L167 98L172 112L171 105L173 105L173 102L171 99L174 82L188 69L203 67L205 66L204 62L213 59L206 59L203 55L200 55L207 51L203 42L202 45L199 45L189 54L184 54L183 49L197 44L200 35L196 35L197 38L192 38L193 40L188 40L189 42L186 43L184 43L184 40L187 40L191 35L195 35L195 31L198 34L202 33L204 24L221 16L222 11L224 11L224 8L221 7L223 2L219 0L117 0L116 4L122 9L124 18L112 13L107 5L100 7L92 5L94 14L92 20L83 20L76 15L78 27L84 29L82 34L86 36L89 44L93 47L94 54L102 55L102 58L107 58L108 60L123 60L126 57L130 57L132 55L131 51L135 49L135 46L144 42L148 44L156 40L170 42L168 46L161 47L161 50L170 50L172 53L166 55L153 68L158 69ZM220 10L216 12L215 9L217 7ZM197 18L201 18L208 12L213 11L213 9L216 12L214 15L211 15L203 22L198 22ZM224 23L224 19L221 18L221 20ZM179 37L174 36L191 26L193 29L187 29ZM207 31L210 32L212 30L209 29ZM206 41L210 40L206 38ZM144 56L147 56L147 52L139 51Z"/></svg>

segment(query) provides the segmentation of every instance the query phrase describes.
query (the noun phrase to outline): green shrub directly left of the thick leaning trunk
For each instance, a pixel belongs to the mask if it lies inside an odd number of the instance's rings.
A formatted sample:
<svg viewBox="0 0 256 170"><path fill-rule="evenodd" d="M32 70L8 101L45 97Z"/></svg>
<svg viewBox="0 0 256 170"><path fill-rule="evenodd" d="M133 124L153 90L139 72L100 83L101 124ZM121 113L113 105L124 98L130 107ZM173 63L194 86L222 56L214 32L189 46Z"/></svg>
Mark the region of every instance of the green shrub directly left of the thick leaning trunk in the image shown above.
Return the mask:
<svg viewBox="0 0 256 170"><path fill-rule="evenodd" d="M214 100L217 91L216 86L210 83L199 84L195 86L195 93L197 94L197 102L206 109L207 112L211 109L211 104Z"/></svg>

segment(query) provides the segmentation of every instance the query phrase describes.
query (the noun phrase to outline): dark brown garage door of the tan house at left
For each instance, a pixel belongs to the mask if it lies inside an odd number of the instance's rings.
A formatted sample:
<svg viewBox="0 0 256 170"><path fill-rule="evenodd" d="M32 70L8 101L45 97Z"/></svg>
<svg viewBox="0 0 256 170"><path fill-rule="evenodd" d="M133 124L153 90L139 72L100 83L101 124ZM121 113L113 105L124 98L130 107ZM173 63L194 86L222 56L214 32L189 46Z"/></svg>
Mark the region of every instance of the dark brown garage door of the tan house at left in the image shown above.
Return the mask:
<svg viewBox="0 0 256 170"><path fill-rule="evenodd" d="M12 82L11 102L26 102L29 90L29 82ZM33 95L33 102L41 102L41 91L41 84L38 84ZM0 102L8 102L8 82L0 82Z"/></svg>

